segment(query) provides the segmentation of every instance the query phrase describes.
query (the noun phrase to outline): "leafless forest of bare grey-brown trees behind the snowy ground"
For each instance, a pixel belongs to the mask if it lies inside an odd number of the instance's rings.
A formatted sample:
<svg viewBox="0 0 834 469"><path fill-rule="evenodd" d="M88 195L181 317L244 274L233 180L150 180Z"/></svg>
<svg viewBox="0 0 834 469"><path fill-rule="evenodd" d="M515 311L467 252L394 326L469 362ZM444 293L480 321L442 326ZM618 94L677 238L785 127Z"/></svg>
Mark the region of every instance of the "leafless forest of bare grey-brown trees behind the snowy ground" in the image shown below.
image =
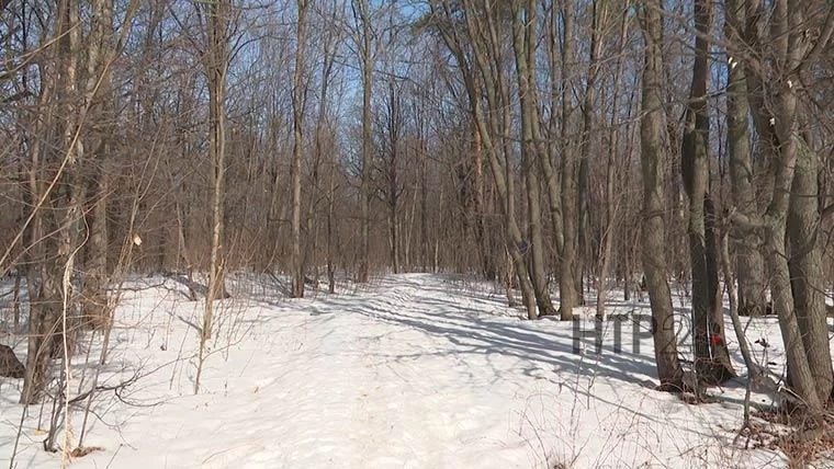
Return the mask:
<svg viewBox="0 0 834 469"><path fill-rule="evenodd" d="M647 291L670 391L744 371L726 335L745 352L739 317L775 314L779 392L819 424L833 33L824 0L0 0L21 402L50 394L80 334L106 338L129 275L176 276L196 300L234 272L293 297L454 272L531 320L602 320L607 295ZM695 379L675 289L692 298Z"/></svg>

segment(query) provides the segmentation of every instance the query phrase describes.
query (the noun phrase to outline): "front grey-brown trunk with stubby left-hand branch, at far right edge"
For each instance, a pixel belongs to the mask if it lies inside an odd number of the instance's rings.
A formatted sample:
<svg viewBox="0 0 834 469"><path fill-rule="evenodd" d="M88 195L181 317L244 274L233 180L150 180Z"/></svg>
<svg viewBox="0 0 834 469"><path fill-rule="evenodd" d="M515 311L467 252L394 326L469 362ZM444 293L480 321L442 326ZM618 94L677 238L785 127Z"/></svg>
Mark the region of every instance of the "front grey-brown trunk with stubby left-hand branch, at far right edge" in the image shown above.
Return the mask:
<svg viewBox="0 0 834 469"><path fill-rule="evenodd" d="M764 9L770 10L769 14L763 14ZM796 196L791 196L794 172L799 172L798 188L812 188L802 181L802 172L809 171L811 167L808 165L808 156L801 155L807 151L807 142L798 130L799 124L801 124L798 118L800 100L797 96L797 87L792 83L800 82L799 73L809 60L807 55L824 48L831 39L831 31L821 36L820 42L811 49L805 42L804 30L799 27L802 24L804 12L799 8L790 8L787 0L775 0L768 5L758 1L748 2L745 14L744 28L739 22L733 23L736 31L744 31L744 41L739 42L736 49L750 47L756 52L756 54L743 55L742 61L745 66L747 95L753 111L753 122L759 136L762 150L771 160L773 192L764 216L751 219L736 213L733 221L736 227L745 231L758 229L764 232L770 297L773 298L774 311L779 318L779 328L788 362L789 382L807 410L819 413L830 396L819 393L819 390L824 390L827 385L816 382L815 371L812 370L810 354L805 345L805 341L819 339L802 336L803 331L800 328L798 309L807 307L808 304L804 304L805 298L802 297L801 287L797 291L791 288L791 272L786 252L786 225L789 218L799 220L803 218L800 214L809 215L805 211L808 210L807 207L790 207L796 202ZM767 28L762 27L760 24L764 18L769 21ZM728 15L728 19L733 22L735 15ZM767 35L763 35L764 33ZM765 50L767 52L765 53ZM765 67L762 59L763 55L767 55L768 60L777 67ZM816 196L815 193L810 194L812 198ZM812 219L813 217L805 218L802 221L812 221ZM809 237L812 231L807 231L808 227L800 228L796 221L791 222L791 229L801 230L801 232L791 232L791 248L799 244L808 245L805 242L814 238L813 234ZM811 226L810 229L813 230L815 227ZM794 245L794 241L798 241L799 244ZM797 253L792 252L791 254ZM812 258L813 255L811 259L807 259L809 265L803 267L811 267L813 271L814 261ZM800 260L800 258L796 260ZM794 262L794 260L791 261ZM802 261L799 263L802 264ZM815 274L811 272L811 275ZM811 299L811 301L814 300ZM807 313L813 313L813 311L804 310L802 312L802 314ZM814 350L819 352L821 347L816 345L814 344ZM819 355L816 356L819 358ZM827 361L830 368L831 355L824 359ZM816 373L819 371L820 368L816 368ZM824 380L825 376L831 376L829 373L822 371L819 376L823 377Z"/></svg>

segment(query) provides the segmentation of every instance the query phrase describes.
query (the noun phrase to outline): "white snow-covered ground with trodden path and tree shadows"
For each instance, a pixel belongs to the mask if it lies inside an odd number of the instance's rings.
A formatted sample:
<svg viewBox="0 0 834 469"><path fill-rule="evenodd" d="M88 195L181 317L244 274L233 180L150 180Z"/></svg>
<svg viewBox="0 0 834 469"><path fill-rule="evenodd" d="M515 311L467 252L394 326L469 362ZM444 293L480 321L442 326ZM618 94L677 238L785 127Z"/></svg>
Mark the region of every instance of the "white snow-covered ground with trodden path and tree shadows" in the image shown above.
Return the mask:
<svg viewBox="0 0 834 469"><path fill-rule="evenodd" d="M523 321L500 291L450 275L384 276L289 300L271 279L230 278L216 305L217 333L194 394L202 302L172 279L128 286L74 468L553 468L784 467L785 458L733 445L742 422L740 379L690 405L652 389L654 352L639 324L604 323L574 353L573 323ZM556 298L557 299L557 298ZM685 301L684 298L679 298ZM588 317L593 308L582 309ZM681 305L681 314L686 305ZM609 313L649 313L615 296ZM583 330L593 328L581 322ZM643 329L640 329L643 328ZM781 373L775 319L753 322L757 358ZM730 338L732 340L732 338ZM685 342L688 340L684 339ZM21 338L0 342L25 353ZM737 370L743 370L734 345ZM94 362L98 340L92 345ZM77 362L84 361L88 344ZM765 356L765 354L767 356ZM70 398L89 389L75 371ZM0 467L9 467L21 419L21 380L0 378ZM754 404L767 407L766 396ZM25 419L14 467L57 467L42 449L38 413ZM72 444L83 409L74 411ZM46 417L43 417L44 422ZM59 442L63 437L59 438ZM742 441L743 443L743 441ZM563 466L560 466L563 465Z"/></svg>

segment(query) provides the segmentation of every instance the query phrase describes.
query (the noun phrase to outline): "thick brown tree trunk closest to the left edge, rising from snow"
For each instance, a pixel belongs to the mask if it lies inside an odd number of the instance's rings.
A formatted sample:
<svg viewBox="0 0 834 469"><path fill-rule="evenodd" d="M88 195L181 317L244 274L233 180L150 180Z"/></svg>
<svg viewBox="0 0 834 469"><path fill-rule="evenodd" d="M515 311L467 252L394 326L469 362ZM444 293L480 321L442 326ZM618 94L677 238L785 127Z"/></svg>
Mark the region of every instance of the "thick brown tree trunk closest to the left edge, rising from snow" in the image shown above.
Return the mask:
<svg viewBox="0 0 834 469"><path fill-rule="evenodd" d="M55 42L46 46L52 65L41 68L38 104L45 116L36 127L36 138L60 137L57 147L42 146L38 141L32 149L32 198L45 203L46 210L35 214L36 228L31 231L37 238L32 238L30 245L42 244L42 248L33 251L40 278L35 279L34 275L29 278L30 287L36 286L30 289L29 351L21 392L21 403L24 404L37 402L43 397L49 362L71 353L65 346L71 346L66 334L71 325L71 273L75 253L80 248L84 187L79 174L84 156L79 138L89 108L78 87L82 53L79 48L78 7L75 0L58 2ZM53 118L54 115L69 117L60 121ZM43 155L40 153L42 149ZM42 156L43 167L38 164ZM55 185L47 186L45 181L54 181ZM32 271L34 268L27 270Z"/></svg>

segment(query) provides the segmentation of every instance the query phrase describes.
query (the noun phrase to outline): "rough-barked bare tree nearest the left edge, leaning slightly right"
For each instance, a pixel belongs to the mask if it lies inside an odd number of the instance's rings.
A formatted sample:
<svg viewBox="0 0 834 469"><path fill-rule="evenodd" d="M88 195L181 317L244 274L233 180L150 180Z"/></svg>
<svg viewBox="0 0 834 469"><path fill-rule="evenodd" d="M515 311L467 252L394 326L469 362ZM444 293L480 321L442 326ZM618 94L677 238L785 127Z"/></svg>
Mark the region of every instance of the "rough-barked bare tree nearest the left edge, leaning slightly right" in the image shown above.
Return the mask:
<svg viewBox="0 0 834 469"><path fill-rule="evenodd" d="M75 247L71 245L68 230L69 227L77 226L75 217L78 215L72 215L70 205L71 193L79 195L78 187L72 190L70 174L74 170L77 171L77 164L80 164L75 158L78 151L76 125L79 122L76 118L67 118L64 127L58 129L55 127L60 124L50 118L54 113L61 111L66 113L64 115L75 115L71 110L78 98L78 4L61 1L54 21L54 37L43 38L46 48L44 56L48 58L48 65L45 62L40 70L42 84L38 111L45 118L36 127L34 138L37 142L32 146L30 157L31 199L36 204L30 216L30 242L38 248L32 251L32 261L37 272L35 268L29 270L27 276L31 302L34 307L30 308L26 374L21 392L21 403L24 404L41 399L45 390L48 364L60 353L61 306L66 305L61 299L65 298L64 295L69 294L68 282L63 281L63 271L65 266L69 266L71 272L69 255ZM53 38L55 43L49 44ZM63 103L58 101L60 96L64 96ZM53 141L57 145L50 151L49 137L54 131L59 131L61 138ZM55 164L59 164L57 172L47 171L49 165ZM43 180L44 176L49 178L52 182L47 184ZM50 208L48 214L42 210L45 204ZM80 206L77 205L76 208ZM63 220L59 219L61 215ZM60 229L65 224L67 228Z"/></svg>

